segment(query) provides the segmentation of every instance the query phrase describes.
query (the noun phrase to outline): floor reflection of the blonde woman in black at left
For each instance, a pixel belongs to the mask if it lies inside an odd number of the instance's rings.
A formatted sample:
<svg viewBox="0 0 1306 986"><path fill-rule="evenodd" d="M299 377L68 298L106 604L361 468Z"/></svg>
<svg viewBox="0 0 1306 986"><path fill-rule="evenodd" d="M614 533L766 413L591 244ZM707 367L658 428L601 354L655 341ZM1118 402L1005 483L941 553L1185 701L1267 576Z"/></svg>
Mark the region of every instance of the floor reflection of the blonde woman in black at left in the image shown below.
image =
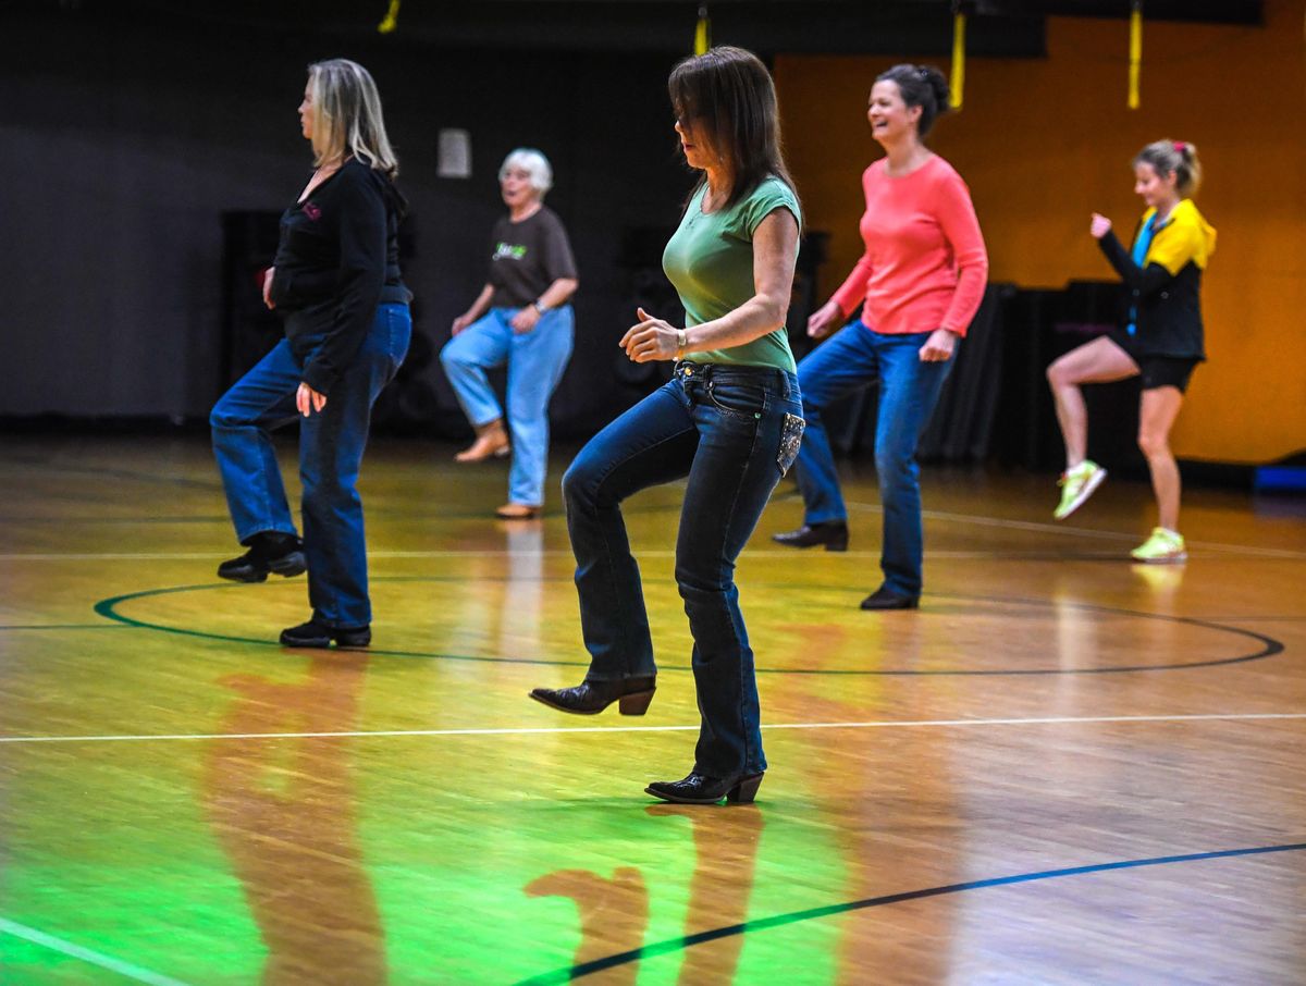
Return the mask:
<svg viewBox="0 0 1306 986"><path fill-rule="evenodd" d="M235 700L218 731L355 731L366 666L366 654L321 652L299 682L225 678ZM387 979L384 931L358 840L355 742L214 739L205 752L204 807L268 948L264 983Z"/></svg>

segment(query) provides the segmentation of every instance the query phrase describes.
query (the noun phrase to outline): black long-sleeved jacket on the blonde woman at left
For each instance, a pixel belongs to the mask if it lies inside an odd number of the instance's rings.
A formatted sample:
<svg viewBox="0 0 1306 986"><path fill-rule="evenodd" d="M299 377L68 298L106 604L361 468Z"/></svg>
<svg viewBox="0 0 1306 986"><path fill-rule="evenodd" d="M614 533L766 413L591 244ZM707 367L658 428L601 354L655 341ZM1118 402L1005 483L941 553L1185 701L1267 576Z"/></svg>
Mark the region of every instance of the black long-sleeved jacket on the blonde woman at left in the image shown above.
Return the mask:
<svg viewBox="0 0 1306 986"><path fill-rule="evenodd" d="M358 354L385 302L411 294L400 274L404 196L357 158L281 215L270 296L303 380L330 389Z"/></svg>

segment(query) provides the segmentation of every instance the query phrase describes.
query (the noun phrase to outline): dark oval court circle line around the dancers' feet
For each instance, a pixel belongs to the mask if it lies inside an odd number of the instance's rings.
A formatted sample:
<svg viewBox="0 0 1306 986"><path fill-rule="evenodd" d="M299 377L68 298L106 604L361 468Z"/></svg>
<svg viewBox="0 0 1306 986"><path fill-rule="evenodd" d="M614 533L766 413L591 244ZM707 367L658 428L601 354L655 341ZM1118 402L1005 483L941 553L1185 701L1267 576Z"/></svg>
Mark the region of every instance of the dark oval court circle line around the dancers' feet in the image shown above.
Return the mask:
<svg viewBox="0 0 1306 986"><path fill-rule="evenodd" d="M456 577L443 577L443 576L384 576L380 579L374 579L374 582L462 582L465 580ZM507 579L482 579L481 581L508 581ZM521 580L516 580L521 581ZM550 581L569 581L563 579L538 579L535 581L550 582ZM656 581L656 580L645 580ZM184 627L167 627L161 623L149 623L146 620L138 620L132 616L127 616L118 611L119 603L129 602L131 599L140 599L150 596L168 596L172 593L184 592L199 592L208 589L239 589L244 588L236 582L209 582L202 585L179 585L166 589L144 589L136 593L127 593L124 596L114 596L107 599L101 599L95 603L95 614L103 616L104 619L115 620L118 623L125 623L127 626L136 627L137 629L154 629L163 633L176 633L179 636L201 637L205 640L219 640L232 644L253 644L256 646L276 646L281 648L274 640L265 640L261 637L238 637L225 633L210 633L202 629L188 629ZM786 582L785 588L793 589L793 582ZM820 586L818 586L820 588ZM940 594L931 598L940 599L969 599L980 602L998 602L998 603L1011 603L1017 606L1032 606L1038 609L1047 609L1053 603L1043 599L1010 599L993 596L952 596ZM863 669L807 669L807 667L757 667L755 669L757 674L788 674L788 675L819 675L819 676L871 676L871 678L942 678L942 676L1011 676L1011 675L1074 675L1074 674L1127 674L1135 671L1182 671L1198 667L1220 667L1224 665L1238 665L1246 663L1247 661L1260 661L1267 657L1273 657L1275 654L1282 653L1284 645L1273 637L1266 636L1264 633L1258 633L1252 629L1243 629L1242 627L1233 627L1224 623L1211 623L1207 620L1200 620L1192 616L1168 616L1165 614L1156 612L1139 612L1138 610L1123 610L1111 606L1094 606L1091 603L1060 603L1063 606L1070 606L1071 609L1085 610L1089 612L1102 612L1115 616L1130 616L1134 619L1153 619L1162 620L1168 623L1179 623L1190 627L1198 627L1200 629L1212 629L1221 633L1233 633L1235 636L1249 637L1260 644L1260 649L1250 654L1241 654L1238 657L1224 657L1215 658L1211 661L1190 661L1185 663L1173 665L1135 665L1126 667L1016 667L1016 669L990 669L990 670L960 670L960 669L925 669L925 670L906 670L906 669L889 669L889 670L863 670ZM500 665L542 665L550 667L589 667L589 661L552 661L543 658L529 658L529 657L485 657L474 654L441 654L422 650L383 650L380 648L370 648L367 650L370 654L377 657L409 657L419 660L438 660L438 661L471 661L477 663L500 663ZM658 670L662 671L691 671L692 667L686 665L658 665Z"/></svg>

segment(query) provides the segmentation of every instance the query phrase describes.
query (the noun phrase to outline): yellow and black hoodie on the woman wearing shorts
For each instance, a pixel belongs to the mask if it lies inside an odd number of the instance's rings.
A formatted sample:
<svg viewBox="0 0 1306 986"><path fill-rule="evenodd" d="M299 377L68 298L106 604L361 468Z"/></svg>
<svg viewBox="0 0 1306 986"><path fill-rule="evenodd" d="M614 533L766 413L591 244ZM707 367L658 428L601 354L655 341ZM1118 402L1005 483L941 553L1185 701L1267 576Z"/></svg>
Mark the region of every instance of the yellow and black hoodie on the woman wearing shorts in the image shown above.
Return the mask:
<svg viewBox="0 0 1306 986"><path fill-rule="evenodd" d="M1156 215L1148 209L1138 234ZM1098 242L1102 253L1124 279L1128 312L1136 333L1113 333L1128 353L1144 357L1205 359L1202 332L1202 272L1216 248L1216 231L1191 199L1179 201L1152 232L1143 266L1107 232Z"/></svg>

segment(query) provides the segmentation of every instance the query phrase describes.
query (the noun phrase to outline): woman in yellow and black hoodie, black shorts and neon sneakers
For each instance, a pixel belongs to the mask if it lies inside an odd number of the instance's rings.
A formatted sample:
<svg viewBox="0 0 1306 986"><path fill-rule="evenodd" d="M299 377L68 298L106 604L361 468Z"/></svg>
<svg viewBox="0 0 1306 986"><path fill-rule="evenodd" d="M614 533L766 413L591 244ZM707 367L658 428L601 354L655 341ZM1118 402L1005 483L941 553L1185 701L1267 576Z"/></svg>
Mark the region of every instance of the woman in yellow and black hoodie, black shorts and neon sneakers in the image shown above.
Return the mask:
<svg viewBox="0 0 1306 986"><path fill-rule="evenodd" d="M1053 516L1068 517L1106 478L1106 470L1087 457L1088 415L1080 385L1141 376L1139 448L1152 473L1158 517L1152 535L1130 554L1139 562L1182 562L1187 549L1178 532L1179 468L1170 452L1170 428L1194 367L1205 359L1199 295L1216 231L1191 199L1202 180L1195 146L1169 140L1148 144L1134 158L1134 191L1148 209L1132 249L1124 249L1105 215L1093 213L1091 225L1124 279L1126 324L1047 367L1066 440L1062 499Z"/></svg>

